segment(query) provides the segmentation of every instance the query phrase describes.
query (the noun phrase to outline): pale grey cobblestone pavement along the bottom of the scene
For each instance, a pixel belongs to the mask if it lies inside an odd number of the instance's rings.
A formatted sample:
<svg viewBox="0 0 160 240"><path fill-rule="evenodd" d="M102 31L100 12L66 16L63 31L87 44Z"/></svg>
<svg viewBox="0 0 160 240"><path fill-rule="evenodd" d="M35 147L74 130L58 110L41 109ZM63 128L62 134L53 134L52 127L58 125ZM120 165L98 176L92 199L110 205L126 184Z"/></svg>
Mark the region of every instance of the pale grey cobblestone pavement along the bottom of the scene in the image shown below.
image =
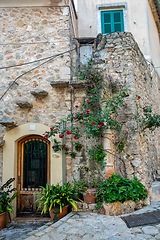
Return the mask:
<svg viewBox="0 0 160 240"><path fill-rule="evenodd" d="M160 199L152 201L133 214L160 210ZM127 215L125 215L127 216ZM33 225L33 223L32 223ZM30 232L29 232L30 231ZM48 222L42 227L31 231L27 228L4 229L0 232L0 239L27 240L160 240L160 224L128 228L123 220L117 216L105 216L97 213L77 212L69 213L56 223Z"/></svg>

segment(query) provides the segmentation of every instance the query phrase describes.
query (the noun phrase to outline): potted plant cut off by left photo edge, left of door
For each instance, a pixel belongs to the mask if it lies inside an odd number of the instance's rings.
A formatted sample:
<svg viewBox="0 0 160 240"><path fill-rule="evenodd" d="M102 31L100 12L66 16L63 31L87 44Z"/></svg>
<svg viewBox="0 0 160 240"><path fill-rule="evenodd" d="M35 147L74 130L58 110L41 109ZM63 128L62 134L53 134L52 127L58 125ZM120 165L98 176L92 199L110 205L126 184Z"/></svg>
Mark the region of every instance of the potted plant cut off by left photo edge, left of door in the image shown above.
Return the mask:
<svg viewBox="0 0 160 240"><path fill-rule="evenodd" d="M14 180L15 178L10 178L5 184L0 187L0 229L5 227L6 212L15 214L13 211L13 206L10 205L10 203L17 196L17 192L15 192L16 189L12 188L12 182Z"/></svg>

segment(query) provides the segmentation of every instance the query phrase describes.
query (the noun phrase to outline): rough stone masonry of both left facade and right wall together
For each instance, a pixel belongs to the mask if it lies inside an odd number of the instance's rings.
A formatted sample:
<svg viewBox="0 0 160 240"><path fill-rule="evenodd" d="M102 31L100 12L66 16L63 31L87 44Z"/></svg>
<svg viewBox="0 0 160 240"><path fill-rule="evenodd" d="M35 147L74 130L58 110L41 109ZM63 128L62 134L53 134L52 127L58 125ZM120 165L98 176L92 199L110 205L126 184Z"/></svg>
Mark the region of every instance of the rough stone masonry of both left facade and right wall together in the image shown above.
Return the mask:
<svg viewBox="0 0 160 240"><path fill-rule="evenodd" d="M72 24L68 7L1 8L0 65L9 66L30 62L71 49L73 39ZM13 43L30 44L13 44ZM47 43L42 43L47 42ZM136 97L141 96L140 104L153 105L159 113L159 78L152 66L149 66L137 43L130 33L112 33L107 35L104 48L93 51L93 60L99 69L103 69L105 80L112 79L120 85L127 85L131 94L126 97L120 112L124 130L128 136L125 159L127 176L137 176L148 187L154 180L159 163L159 130L143 135L130 131L137 123L131 113L137 113ZM53 126L57 120L78 109L83 102L84 90L72 91L68 86L52 88L53 81L72 80L72 54L67 53L55 58L35 71L20 78L0 101L0 137L10 130L27 122ZM32 65L34 67L35 65ZM0 96L14 79L31 66L18 66L1 70ZM45 90L42 98L33 93ZM78 104L77 104L78 103ZM27 106L27 107L26 107ZM6 123L6 126L5 126ZM14 125L15 124L15 125ZM115 136L116 137L116 136ZM71 146L71 139L66 139ZM82 140L85 142L86 140ZM66 157L67 181L71 181L71 172L78 169L84 159L85 150L76 159ZM118 153L117 153L118 154ZM3 147L0 149L0 182L2 181Z"/></svg>

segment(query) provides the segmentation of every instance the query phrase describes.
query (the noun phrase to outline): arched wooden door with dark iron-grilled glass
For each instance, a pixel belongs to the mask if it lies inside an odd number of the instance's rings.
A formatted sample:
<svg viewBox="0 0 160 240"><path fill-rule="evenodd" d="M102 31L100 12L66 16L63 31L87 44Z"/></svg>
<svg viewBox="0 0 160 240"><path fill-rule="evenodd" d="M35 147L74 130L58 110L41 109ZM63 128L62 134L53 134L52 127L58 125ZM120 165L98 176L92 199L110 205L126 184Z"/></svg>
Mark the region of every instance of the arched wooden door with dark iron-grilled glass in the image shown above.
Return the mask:
<svg viewBox="0 0 160 240"><path fill-rule="evenodd" d="M32 135L18 142L17 216L40 215L37 193L49 182L50 144Z"/></svg>

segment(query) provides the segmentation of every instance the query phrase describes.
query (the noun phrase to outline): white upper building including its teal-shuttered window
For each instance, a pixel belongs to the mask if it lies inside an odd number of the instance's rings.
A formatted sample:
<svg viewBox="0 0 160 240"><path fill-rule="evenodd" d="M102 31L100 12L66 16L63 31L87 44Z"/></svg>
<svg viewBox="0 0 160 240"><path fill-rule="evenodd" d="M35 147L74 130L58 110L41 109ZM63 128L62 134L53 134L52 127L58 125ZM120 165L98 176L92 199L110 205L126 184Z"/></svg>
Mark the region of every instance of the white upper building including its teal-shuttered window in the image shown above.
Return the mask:
<svg viewBox="0 0 160 240"><path fill-rule="evenodd" d="M77 1L77 11L79 38L95 38L100 32L131 32L145 58L160 74L158 0L81 0Z"/></svg>

